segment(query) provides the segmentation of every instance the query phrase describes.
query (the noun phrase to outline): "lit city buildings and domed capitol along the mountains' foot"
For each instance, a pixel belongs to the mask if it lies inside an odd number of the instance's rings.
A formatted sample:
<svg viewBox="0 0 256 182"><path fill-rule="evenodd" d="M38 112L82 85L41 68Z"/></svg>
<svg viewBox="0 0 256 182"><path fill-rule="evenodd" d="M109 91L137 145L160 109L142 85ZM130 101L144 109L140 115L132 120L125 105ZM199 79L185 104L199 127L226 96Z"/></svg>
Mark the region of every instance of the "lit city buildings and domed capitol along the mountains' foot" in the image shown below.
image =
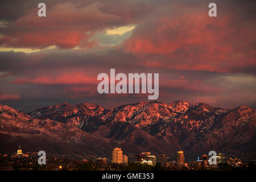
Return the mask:
<svg viewBox="0 0 256 182"><path fill-rule="evenodd" d="M138 154L138 160L129 160L129 162L128 162L128 161L123 160L123 156L125 156L126 159L127 159L127 156L126 155L121 155L121 153L122 153L122 149L116 147L112 151L112 159L111 160L107 160L106 158L95 158L93 160L92 159L90 159L90 160L82 159L82 160L80 160L80 162L82 162L84 164L93 162L92 163L92 166L93 166L92 169L95 168L95 167L97 168L97 166L100 167L100 168L102 168L102 167L104 168L104 166L106 167L106 166L109 166L111 164L112 165L114 165L114 164L119 164L119 165L125 164L126 166L129 166L133 162L138 163L138 164L142 164L142 166L144 166L144 167L146 167L146 166L156 167L156 166L158 166L158 164L160 164L160 167L162 167L163 169L166 169L166 170L179 169L179 170L183 170L183 171L184 170L199 170L199 169L205 169L205 170L221 169L221 166L223 166L225 164L230 166L231 168L239 168L240 166L248 167L248 164L243 164L241 159L239 159L239 158L234 158L233 159L231 157L228 158L227 156L225 156L224 154L222 154L220 152L218 152L218 154L216 156L216 159L217 159L216 164L210 164L209 163L209 156L207 156L205 154L200 155L197 160L187 161L185 163L184 162L185 155L184 155L183 151L177 151L177 160L176 160L176 162L174 160L167 161L166 159L168 159L168 156L166 157L166 155L164 155L164 154L160 154L160 155L156 156L156 155L152 155L151 152L141 152L140 154ZM120 158L122 158L122 159L118 160L118 155L120 155L121 156ZM6 159L6 158L8 158L8 156L6 154L0 154L0 160L1 160L1 164L2 164L2 166L0 165L0 167L6 166L6 164L2 163L3 160ZM29 160L29 161L32 162L32 163L30 162L31 165L32 164L35 165L37 163L37 160L36 160L37 158L38 158L37 152L22 152L22 148L19 146L17 152L14 155L10 155L9 160L12 161L13 159L15 159L15 160L19 159L19 160L17 160L17 161L19 161L19 163L22 162L22 161L26 162L27 160ZM49 157L49 158L50 158L50 160L55 159L55 160L58 160L60 162L59 164L57 164L57 168L56 168L57 170L63 170L63 167L64 167L65 170L72 169L72 168L68 168L67 164L61 162L61 158L59 158L59 157L56 158L56 156L55 156L55 158L52 158L52 157ZM67 156L62 157L62 159L65 159L65 158L68 159ZM152 161L153 158L155 159L155 162ZM163 158L165 158L164 163L161 162L161 160L163 160ZM69 159L71 159L71 158L69 158ZM49 160L47 160L47 162L49 163ZM251 162L253 162L253 161L251 161ZM19 163L17 163L17 164L19 164ZM94 165L96 165L96 166L94 166ZM38 166L39 166L39 168L40 168L40 166L42 167L42 165L38 165ZM49 164L48 164L48 166L49 166ZM115 166L115 167L118 167L118 166ZM121 167L121 166L119 166L119 167ZM43 167L43 168L47 169L45 167ZM110 166L110 168L111 168L111 166ZM229 168L229 169L231 169L231 168ZM1 168L1 169L3 169L3 168ZM13 168L9 168L9 169L13 169ZM32 168L27 168L27 169L32 170ZM73 170L74 169L75 168L73 168ZM225 169L225 170L227 170L227 169Z"/></svg>

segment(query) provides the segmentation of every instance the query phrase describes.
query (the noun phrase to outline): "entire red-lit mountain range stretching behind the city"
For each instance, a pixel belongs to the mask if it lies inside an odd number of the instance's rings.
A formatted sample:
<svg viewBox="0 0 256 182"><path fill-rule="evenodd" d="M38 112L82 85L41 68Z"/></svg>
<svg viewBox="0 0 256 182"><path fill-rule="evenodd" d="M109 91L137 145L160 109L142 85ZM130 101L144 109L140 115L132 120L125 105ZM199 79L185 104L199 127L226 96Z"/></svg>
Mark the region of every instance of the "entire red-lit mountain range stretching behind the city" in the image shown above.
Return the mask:
<svg viewBox="0 0 256 182"><path fill-rule="evenodd" d="M97 104L63 103L23 113L0 105L0 152L17 146L52 154L109 157L123 154L176 154L178 150L256 150L255 110L216 108L204 103L138 102L105 109Z"/></svg>

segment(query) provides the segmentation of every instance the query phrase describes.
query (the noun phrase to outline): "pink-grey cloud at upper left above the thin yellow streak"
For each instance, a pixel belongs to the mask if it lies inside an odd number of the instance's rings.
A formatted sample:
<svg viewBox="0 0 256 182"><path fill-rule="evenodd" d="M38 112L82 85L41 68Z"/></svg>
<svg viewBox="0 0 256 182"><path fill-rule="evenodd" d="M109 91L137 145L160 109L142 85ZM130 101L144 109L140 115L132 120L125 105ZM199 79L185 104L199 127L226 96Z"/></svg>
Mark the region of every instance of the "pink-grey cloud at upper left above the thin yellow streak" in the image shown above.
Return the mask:
<svg viewBox="0 0 256 182"><path fill-rule="evenodd" d="M38 9L32 9L30 13L9 23L0 45L26 48L52 45L61 48L92 47L96 42L89 38L94 31L121 23L121 17L103 13L100 10L102 6L100 2L88 6L58 3L48 7L47 16L43 18L37 16Z"/></svg>

